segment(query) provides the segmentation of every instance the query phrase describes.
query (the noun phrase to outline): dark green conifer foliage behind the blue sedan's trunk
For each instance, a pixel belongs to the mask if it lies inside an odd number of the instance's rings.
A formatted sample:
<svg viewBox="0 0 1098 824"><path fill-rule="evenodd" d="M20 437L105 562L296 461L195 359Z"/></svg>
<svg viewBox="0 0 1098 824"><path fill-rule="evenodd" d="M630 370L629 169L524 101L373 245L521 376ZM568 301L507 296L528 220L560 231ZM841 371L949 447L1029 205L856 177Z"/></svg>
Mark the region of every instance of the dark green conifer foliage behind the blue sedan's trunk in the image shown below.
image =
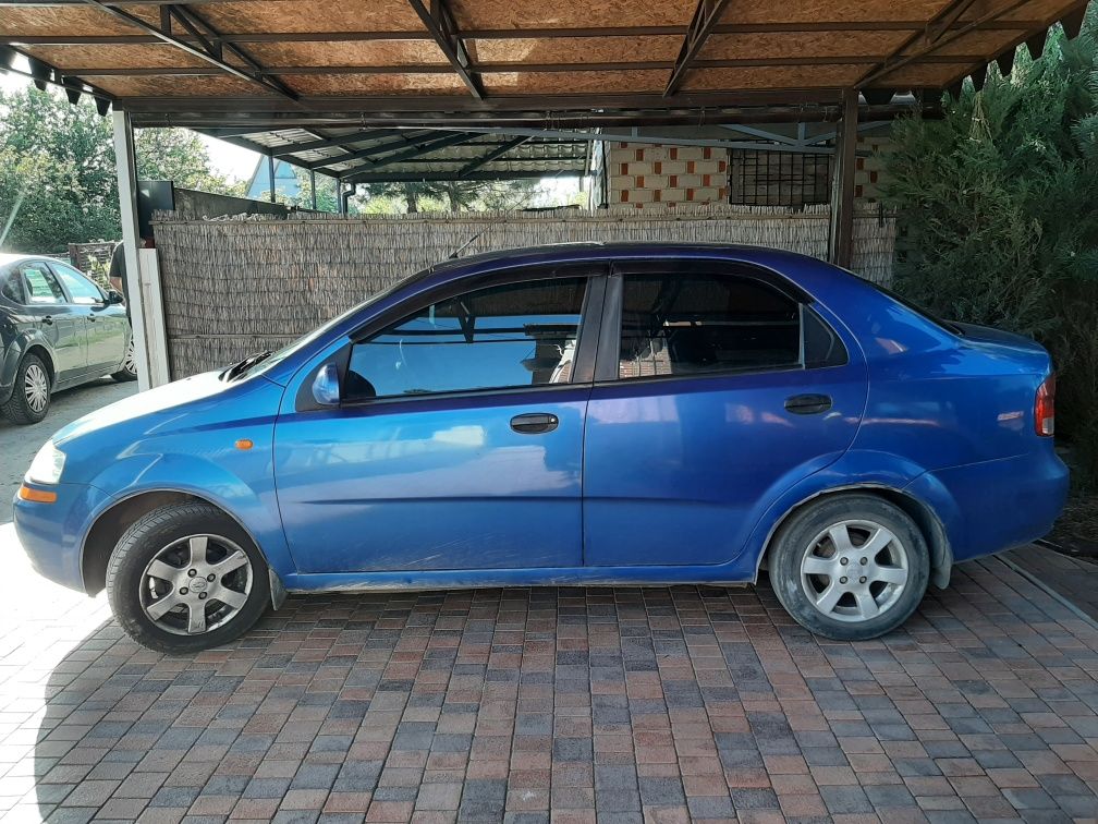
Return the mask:
<svg viewBox="0 0 1098 824"><path fill-rule="evenodd" d="M1098 479L1098 49L1050 36L1010 77L893 129L886 200L912 250L896 288L942 316L1041 341L1060 377L1057 424L1080 479Z"/></svg>

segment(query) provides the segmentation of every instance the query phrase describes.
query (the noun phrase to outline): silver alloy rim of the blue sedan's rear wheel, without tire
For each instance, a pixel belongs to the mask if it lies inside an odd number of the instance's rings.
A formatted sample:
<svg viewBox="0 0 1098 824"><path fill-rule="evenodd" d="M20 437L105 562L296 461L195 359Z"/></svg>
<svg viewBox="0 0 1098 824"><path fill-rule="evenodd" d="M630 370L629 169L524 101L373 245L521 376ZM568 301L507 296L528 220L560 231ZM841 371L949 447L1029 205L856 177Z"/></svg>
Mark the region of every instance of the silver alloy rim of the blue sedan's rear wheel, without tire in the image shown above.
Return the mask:
<svg viewBox="0 0 1098 824"><path fill-rule="evenodd" d="M870 621L892 609L910 575L907 548L873 521L840 521L820 532L800 559L809 603L829 619Z"/></svg>

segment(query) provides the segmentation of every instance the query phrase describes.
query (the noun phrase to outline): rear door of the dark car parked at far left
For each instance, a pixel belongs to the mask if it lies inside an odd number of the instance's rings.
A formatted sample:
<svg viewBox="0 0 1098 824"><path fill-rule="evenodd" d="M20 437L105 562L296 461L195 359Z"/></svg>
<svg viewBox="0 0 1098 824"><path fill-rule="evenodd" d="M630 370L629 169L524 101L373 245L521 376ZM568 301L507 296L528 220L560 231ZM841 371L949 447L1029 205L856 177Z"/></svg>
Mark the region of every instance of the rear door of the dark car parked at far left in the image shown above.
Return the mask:
<svg viewBox="0 0 1098 824"><path fill-rule="evenodd" d="M68 294L45 260L26 260L19 270L26 296L26 314L53 349L54 382L64 385L80 378L88 369L82 308L69 303Z"/></svg>

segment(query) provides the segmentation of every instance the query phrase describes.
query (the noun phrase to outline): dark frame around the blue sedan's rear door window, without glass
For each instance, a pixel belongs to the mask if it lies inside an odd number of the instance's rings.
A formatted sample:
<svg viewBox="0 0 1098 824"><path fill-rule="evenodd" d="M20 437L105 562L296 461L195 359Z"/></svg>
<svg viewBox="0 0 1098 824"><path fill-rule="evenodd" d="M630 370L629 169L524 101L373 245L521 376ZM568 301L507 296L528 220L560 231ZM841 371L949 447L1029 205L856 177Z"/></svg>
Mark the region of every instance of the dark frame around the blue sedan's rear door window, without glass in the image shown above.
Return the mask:
<svg viewBox="0 0 1098 824"><path fill-rule="evenodd" d="M683 372L679 375L645 375L635 378L620 376L621 356L621 313L625 299L625 278L635 275L712 276L718 278L738 278L753 280L775 290L797 305L797 318L800 329L798 363L795 365L777 365L771 367L729 367L704 372ZM603 304L603 321L601 324L598 356L595 363L595 385L627 386L631 383L651 383L669 380L708 380L746 375L768 375L772 372L800 372L830 369L850 364L850 352L834 325L813 307L816 300L800 287L777 272L755 264L739 260L721 260L706 258L668 258L664 260L621 260L615 261L606 281L606 298ZM824 324L832 339L841 347L842 358L837 363L818 366L807 366L805 358L805 313L811 312Z"/></svg>

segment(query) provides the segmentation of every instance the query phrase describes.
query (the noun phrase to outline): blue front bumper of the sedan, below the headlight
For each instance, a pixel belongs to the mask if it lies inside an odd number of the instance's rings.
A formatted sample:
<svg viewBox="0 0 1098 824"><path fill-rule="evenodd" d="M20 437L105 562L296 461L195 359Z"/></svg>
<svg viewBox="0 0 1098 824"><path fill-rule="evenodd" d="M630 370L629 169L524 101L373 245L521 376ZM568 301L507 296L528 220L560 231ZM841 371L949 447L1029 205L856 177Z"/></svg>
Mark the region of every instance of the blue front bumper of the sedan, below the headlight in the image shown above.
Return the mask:
<svg viewBox="0 0 1098 824"><path fill-rule="evenodd" d="M27 485L57 493L53 503L14 501L15 534L34 569L45 578L85 592L80 559L83 539L107 493L85 483Z"/></svg>

